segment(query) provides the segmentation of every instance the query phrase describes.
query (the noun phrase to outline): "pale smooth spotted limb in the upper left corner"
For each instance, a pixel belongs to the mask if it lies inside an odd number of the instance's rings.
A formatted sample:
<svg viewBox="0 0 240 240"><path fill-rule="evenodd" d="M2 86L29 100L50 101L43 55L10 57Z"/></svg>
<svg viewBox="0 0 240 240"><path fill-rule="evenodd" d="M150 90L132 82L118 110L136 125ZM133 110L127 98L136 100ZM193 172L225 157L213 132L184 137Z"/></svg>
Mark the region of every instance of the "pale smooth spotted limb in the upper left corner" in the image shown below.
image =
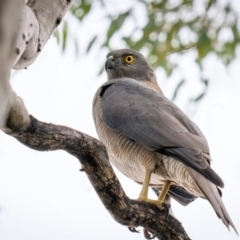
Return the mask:
<svg viewBox="0 0 240 240"><path fill-rule="evenodd" d="M29 0L27 5L22 4L19 34L12 65L15 69L26 68L35 61L73 1Z"/></svg>

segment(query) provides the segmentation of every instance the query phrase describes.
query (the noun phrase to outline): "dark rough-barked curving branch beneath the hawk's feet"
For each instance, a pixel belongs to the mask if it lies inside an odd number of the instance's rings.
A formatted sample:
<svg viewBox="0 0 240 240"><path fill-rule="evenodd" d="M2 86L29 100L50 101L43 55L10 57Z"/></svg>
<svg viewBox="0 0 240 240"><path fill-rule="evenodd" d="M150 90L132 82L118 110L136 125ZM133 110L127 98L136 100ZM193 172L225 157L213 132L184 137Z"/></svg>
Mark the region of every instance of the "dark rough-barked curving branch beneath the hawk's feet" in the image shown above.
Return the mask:
<svg viewBox="0 0 240 240"><path fill-rule="evenodd" d="M10 122L7 127L12 128ZM105 146L97 139L68 127L40 122L32 116L25 130L11 135L30 148L62 149L77 157L106 209L120 224L142 226L159 239L190 239L174 217L170 215L166 219L164 211L126 196L109 163Z"/></svg>

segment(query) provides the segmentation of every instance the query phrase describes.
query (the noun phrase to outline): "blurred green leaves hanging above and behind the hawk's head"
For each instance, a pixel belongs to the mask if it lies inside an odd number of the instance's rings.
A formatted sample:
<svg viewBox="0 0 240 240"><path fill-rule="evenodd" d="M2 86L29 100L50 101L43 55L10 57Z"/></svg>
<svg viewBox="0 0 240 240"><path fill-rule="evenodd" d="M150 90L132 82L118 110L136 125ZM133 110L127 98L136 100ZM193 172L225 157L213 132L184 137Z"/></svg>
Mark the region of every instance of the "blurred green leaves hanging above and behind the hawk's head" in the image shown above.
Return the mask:
<svg viewBox="0 0 240 240"><path fill-rule="evenodd" d="M97 1L97 0L96 0ZM220 0L154 0L151 3L136 0L126 11L109 14L106 10L107 0L98 0L101 11L106 12L109 27L105 34L102 48L111 49L111 40L121 31L122 41L126 47L142 50L147 49L147 56L154 68L162 67L170 76L176 69L169 58L172 53L184 54L186 50L197 52L196 64L202 69L203 61L209 53L215 53L227 66L236 57L236 49L240 43L239 15L232 4L234 1ZM76 0L72 6L72 13L80 21L92 10L93 2L90 0ZM146 9L146 22L142 26L136 19L136 5ZM134 22L130 34L124 33L124 24ZM66 30L65 30L66 31ZM135 33L139 37L136 37ZM97 36L89 42L87 52L91 50ZM200 76L204 91L192 99L199 101L205 95L208 80ZM173 99L179 89L184 86L181 80L176 86Z"/></svg>

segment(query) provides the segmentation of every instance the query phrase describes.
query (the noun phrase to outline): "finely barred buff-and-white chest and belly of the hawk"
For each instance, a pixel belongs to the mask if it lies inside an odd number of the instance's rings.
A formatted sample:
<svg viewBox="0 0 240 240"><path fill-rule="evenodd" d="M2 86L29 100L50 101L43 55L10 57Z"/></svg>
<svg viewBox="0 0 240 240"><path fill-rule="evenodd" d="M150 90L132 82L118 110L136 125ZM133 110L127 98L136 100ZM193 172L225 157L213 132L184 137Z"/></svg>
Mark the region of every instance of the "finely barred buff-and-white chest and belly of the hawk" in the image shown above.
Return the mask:
<svg viewBox="0 0 240 240"><path fill-rule="evenodd" d="M99 139L106 146L112 164L134 181L143 182L146 169L154 171L156 164L160 164L157 154L110 129L102 119L101 98L94 101L93 117ZM159 183L159 178L153 182Z"/></svg>

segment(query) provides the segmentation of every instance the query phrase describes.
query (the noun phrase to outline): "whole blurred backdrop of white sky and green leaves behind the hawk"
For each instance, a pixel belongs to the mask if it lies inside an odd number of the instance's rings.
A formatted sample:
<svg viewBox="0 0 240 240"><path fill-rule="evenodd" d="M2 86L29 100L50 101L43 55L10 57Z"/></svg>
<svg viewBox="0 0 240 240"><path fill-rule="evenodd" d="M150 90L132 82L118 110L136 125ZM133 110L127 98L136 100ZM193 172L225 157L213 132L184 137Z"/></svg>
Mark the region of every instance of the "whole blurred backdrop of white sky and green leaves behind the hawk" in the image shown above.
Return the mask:
<svg viewBox="0 0 240 240"><path fill-rule="evenodd" d="M106 81L106 54L140 51L165 95L205 134L240 231L239 43L238 0L76 0L34 64L12 72L11 84L37 119L97 137L92 99ZM144 239L112 219L79 169L63 151L37 152L0 132L0 239ZM140 186L115 172L137 198ZM192 239L239 239L203 199L172 208Z"/></svg>

